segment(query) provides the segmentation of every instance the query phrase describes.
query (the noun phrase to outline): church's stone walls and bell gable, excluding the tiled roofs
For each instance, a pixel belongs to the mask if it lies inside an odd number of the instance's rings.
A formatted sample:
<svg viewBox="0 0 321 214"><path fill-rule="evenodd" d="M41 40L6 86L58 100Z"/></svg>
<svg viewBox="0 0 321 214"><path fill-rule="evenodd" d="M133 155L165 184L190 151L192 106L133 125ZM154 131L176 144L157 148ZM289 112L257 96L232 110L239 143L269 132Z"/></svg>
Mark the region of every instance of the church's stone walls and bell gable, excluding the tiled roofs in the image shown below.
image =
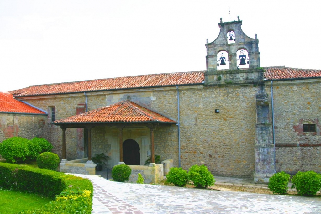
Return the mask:
<svg viewBox="0 0 321 214"><path fill-rule="evenodd" d="M240 20L219 23L218 38L205 45L207 70L202 83L28 95L18 99L48 112L55 107L56 120L82 114L86 108L91 111L132 100L177 121L153 129L154 149L162 161L170 159L172 166L186 170L204 164L213 175L253 177L257 183L268 182L279 171L320 173L321 78L265 80L257 36L246 36L241 25ZM228 43L228 35L234 35L234 43ZM247 52L242 64L237 54L240 50ZM218 67L222 65L222 51L228 55L229 67L225 70ZM62 130L51 124L50 115L1 114L0 120L0 141L11 136L44 137L62 157ZM315 124L315 132L304 132L307 124ZM138 144L143 165L151 150L150 128L126 125L122 140ZM108 168L120 160L119 136L115 124L91 129L92 156L107 155ZM66 159L87 157L85 138L85 130L79 127L66 129ZM143 168L137 166L135 172Z"/></svg>

